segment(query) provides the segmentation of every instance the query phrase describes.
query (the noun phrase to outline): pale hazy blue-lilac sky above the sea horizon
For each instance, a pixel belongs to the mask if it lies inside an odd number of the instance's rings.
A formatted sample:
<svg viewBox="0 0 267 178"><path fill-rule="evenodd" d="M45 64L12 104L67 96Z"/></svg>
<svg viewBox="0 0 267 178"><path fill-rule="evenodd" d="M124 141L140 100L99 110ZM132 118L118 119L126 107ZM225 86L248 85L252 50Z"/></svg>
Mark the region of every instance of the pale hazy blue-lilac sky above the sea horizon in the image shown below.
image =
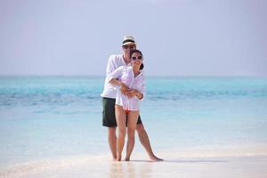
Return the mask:
<svg viewBox="0 0 267 178"><path fill-rule="evenodd" d="M125 35L148 76L267 76L266 0L0 0L0 75L104 76Z"/></svg>

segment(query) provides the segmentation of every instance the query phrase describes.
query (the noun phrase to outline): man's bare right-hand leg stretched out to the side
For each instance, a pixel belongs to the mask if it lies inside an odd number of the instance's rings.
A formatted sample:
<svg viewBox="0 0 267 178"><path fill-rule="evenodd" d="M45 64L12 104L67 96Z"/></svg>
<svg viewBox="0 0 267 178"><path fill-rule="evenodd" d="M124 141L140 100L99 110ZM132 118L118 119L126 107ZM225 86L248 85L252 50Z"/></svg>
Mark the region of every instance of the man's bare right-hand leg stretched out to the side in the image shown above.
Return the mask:
<svg viewBox="0 0 267 178"><path fill-rule="evenodd" d="M151 161L163 161L162 158L158 158L154 155L152 148L151 148L151 145L150 145L149 135L145 131L142 124L136 125L136 131L138 133L138 137L139 137L140 142L142 143L142 146L145 148L145 150L147 151L147 153L150 157L150 160Z"/></svg>

